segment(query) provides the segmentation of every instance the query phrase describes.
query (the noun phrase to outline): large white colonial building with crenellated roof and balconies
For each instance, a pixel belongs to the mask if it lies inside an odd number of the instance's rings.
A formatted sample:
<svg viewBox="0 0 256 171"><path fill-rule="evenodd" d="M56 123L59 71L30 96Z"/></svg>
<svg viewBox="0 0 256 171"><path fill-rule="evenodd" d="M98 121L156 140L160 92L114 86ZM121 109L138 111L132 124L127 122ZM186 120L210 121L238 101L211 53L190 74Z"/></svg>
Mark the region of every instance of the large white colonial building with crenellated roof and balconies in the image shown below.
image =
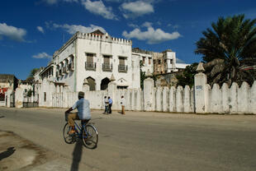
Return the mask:
<svg viewBox="0 0 256 171"><path fill-rule="evenodd" d="M140 88L140 58L132 58L131 45L131 40L113 38L100 30L77 32L40 72L41 93L46 98L58 85L76 92L82 90L85 80L90 90L106 90L111 76L117 88Z"/></svg>

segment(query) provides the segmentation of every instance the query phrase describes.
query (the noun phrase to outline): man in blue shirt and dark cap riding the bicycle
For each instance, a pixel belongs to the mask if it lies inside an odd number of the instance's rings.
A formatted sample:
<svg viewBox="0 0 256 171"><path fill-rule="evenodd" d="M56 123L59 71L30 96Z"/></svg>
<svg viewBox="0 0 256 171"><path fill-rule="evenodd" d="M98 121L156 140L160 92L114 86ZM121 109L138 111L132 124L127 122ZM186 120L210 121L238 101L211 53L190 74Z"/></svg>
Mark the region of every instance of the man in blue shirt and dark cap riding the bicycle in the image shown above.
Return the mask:
<svg viewBox="0 0 256 171"><path fill-rule="evenodd" d="M70 113L74 109L78 109L78 113ZM91 119L90 103L88 99L84 99L83 91L78 92L78 101L73 104L73 107L69 108L65 114L68 114L69 126L72 127L69 134L73 134L75 132L74 120L83 120L86 124Z"/></svg>

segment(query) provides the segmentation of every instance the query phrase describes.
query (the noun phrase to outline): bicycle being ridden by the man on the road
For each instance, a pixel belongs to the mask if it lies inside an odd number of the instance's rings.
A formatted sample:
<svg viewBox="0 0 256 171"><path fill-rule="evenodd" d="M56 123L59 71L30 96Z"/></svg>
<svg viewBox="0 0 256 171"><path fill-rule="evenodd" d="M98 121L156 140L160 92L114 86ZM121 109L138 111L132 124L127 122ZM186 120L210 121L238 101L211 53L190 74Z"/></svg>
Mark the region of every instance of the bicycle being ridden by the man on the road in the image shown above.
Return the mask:
<svg viewBox="0 0 256 171"><path fill-rule="evenodd" d="M83 146L89 149L95 149L97 147L98 133L93 124L94 123L92 122L87 122L84 124L82 120L81 124L78 125L78 123L75 121L74 129L76 132L70 135L69 131L72 129L72 127L69 127L69 123L66 122L63 128L64 141L67 144L73 144L77 138L80 138L83 139Z"/></svg>

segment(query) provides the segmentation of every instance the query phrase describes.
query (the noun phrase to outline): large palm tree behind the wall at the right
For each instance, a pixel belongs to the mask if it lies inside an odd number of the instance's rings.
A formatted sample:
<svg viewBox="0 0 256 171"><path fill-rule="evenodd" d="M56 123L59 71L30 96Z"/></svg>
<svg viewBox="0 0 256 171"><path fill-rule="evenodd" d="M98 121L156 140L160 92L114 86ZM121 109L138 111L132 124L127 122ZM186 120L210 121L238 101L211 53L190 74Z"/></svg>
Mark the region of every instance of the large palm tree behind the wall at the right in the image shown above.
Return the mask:
<svg viewBox="0 0 256 171"><path fill-rule="evenodd" d="M244 15L220 17L202 32L195 53L202 54L209 83L229 85L236 81L255 80L253 71L242 70L243 65L256 64L256 19L244 19ZM246 61L246 62L245 62Z"/></svg>

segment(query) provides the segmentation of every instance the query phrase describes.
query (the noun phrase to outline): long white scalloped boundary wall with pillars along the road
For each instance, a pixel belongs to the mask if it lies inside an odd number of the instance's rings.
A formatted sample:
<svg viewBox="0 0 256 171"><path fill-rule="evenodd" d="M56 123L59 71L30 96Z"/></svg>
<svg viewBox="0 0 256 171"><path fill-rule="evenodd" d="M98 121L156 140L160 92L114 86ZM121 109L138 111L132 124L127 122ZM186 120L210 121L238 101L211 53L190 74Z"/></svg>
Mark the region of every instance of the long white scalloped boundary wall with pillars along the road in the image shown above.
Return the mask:
<svg viewBox="0 0 256 171"><path fill-rule="evenodd" d="M43 84L47 84L44 81ZM78 92L72 92L67 86L57 85L49 81L51 91L39 92L39 105L42 107L69 108L78 99ZM108 90L89 91L88 85L83 85L85 98L90 101L92 109L104 109L104 96L113 99L112 109L120 110L121 95L126 99L126 110L159 111L172 113L254 113L256 114L256 81L250 87L243 82L239 87L233 83L230 87L223 84L206 84L206 75L198 73L195 76L195 86L154 87L151 78L145 79L144 91L140 89L119 90L114 81L108 85ZM16 90L17 107L22 107L20 92Z"/></svg>

